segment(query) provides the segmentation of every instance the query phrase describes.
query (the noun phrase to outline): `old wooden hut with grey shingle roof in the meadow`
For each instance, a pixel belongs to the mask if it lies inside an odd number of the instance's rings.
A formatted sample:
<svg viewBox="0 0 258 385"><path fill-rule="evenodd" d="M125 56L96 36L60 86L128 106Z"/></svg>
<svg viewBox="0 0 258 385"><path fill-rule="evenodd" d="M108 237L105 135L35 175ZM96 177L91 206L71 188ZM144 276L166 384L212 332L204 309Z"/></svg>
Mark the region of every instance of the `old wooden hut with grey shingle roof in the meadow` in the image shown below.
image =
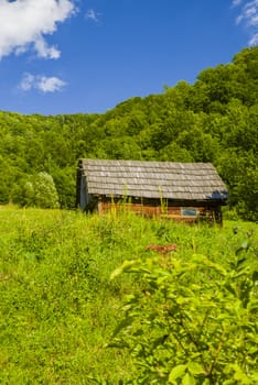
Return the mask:
<svg viewBox="0 0 258 385"><path fill-rule="evenodd" d="M79 160L76 206L128 208L144 216L222 222L226 186L211 163Z"/></svg>

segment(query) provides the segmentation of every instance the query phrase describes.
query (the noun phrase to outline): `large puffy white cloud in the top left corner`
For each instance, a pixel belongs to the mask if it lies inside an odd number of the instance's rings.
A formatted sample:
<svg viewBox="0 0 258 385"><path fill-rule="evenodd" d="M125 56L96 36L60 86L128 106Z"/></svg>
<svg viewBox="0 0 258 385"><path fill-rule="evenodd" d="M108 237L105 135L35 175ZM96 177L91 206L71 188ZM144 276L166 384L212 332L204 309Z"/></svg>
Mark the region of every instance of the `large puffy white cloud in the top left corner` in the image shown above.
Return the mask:
<svg viewBox="0 0 258 385"><path fill-rule="evenodd" d="M40 57L58 58L61 52L47 45L45 35L74 12L74 0L0 0L0 59L32 47Z"/></svg>

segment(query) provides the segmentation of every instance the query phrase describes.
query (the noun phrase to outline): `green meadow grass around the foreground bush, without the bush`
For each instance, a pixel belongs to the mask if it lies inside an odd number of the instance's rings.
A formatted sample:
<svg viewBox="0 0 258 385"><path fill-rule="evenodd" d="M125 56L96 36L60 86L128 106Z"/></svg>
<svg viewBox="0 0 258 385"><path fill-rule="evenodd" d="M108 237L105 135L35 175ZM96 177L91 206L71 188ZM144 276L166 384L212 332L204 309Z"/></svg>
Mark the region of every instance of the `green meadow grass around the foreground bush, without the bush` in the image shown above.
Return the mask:
<svg viewBox="0 0 258 385"><path fill-rule="evenodd" d="M117 384L133 373L127 353L105 349L126 294L141 282L109 276L150 243L178 245L180 258L200 253L229 264L247 238L257 255L257 226L185 226L135 216L84 216L0 207L0 383Z"/></svg>

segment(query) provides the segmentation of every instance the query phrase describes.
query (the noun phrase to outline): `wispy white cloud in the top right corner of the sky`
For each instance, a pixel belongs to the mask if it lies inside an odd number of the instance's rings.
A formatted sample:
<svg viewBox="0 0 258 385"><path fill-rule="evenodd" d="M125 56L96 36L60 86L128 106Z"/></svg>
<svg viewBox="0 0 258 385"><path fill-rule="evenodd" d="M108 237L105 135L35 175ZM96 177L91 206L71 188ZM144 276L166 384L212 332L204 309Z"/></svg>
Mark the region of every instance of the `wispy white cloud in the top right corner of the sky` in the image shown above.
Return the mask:
<svg viewBox="0 0 258 385"><path fill-rule="evenodd" d="M239 15L236 23L244 23L250 31L249 45L258 44L258 0L243 1L234 0L234 7L240 6Z"/></svg>

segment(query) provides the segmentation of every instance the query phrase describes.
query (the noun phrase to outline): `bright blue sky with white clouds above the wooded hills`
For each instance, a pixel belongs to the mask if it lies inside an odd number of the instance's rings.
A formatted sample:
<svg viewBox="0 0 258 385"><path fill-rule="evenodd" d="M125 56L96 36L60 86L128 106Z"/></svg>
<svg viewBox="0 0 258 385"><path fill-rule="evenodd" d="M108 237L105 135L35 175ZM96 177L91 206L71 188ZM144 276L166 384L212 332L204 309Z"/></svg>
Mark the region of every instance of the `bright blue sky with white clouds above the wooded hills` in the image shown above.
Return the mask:
<svg viewBox="0 0 258 385"><path fill-rule="evenodd" d="M0 0L0 110L105 112L258 43L258 0Z"/></svg>

